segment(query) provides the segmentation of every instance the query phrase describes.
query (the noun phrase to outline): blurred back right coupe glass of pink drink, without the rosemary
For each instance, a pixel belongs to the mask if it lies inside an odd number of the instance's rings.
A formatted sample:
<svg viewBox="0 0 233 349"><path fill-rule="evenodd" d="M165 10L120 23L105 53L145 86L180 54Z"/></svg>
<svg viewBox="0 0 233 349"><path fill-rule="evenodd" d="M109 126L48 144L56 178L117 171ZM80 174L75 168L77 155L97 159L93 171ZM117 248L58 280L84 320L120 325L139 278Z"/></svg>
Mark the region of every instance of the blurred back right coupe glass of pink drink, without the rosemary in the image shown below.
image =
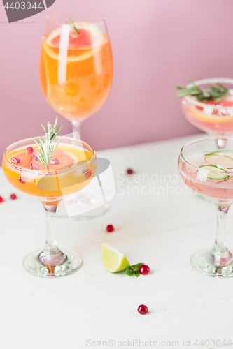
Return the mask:
<svg viewBox="0 0 233 349"><path fill-rule="evenodd" d="M215 84L223 84L229 89L229 95L221 101L202 103L195 97L185 96L181 99L181 107L185 118L190 124L208 133L209 135L232 135L233 134L233 79L213 78L203 79L191 82L187 87L193 84L205 89ZM218 138L219 148L225 147L224 139Z"/></svg>

